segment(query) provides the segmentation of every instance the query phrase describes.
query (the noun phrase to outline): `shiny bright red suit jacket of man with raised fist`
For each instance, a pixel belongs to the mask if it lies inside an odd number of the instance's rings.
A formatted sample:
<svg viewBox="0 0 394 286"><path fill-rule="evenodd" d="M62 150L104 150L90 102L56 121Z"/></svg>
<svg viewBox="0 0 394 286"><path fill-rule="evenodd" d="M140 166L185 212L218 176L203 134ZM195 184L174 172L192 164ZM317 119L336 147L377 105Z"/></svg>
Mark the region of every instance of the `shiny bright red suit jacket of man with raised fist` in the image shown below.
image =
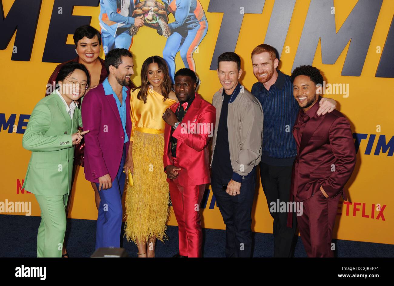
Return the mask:
<svg viewBox="0 0 394 286"><path fill-rule="evenodd" d="M177 105L178 103L171 105L171 110L175 112ZM172 126L165 124L163 156L164 167L167 165L175 165L181 168L181 170L178 171L178 177L174 180L174 182L180 186L208 184L211 182L209 173L208 142L212 136L208 136L206 129L204 129L205 132L201 132L200 134L192 134L192 132L188 130L188 121L190 123L189 128L197 131L197 123L210 124L210 131L208 130L208 132L212 132L211 135L213 135L216 121L216 108L214 108L212 104L203 100L198 94L195 95L190 108L182 120L182 124L179 125L172 134L172 136L178 140L176 151L177 164L174 164L170 149ZM182 133L182 125L184 123L186 124L183 129L185 133ZM193 129L193 123L196 124L195 129ZM167 182L169 182L169 180L170 179L167 178Z"/></svg>

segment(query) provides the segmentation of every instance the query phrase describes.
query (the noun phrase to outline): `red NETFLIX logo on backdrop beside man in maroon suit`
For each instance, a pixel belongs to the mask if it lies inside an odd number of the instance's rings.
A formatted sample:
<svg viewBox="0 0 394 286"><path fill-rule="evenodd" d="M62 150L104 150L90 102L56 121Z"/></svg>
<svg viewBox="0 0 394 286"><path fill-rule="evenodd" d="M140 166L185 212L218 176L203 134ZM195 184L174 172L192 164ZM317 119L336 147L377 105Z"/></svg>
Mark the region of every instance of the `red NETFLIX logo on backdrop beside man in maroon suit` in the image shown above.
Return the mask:
<svg viewBox="0 0 394 286"><path fill-rule="evenodd" d="M342 204L346 206L345 213L341 212L342 208L345 208L345 206L342 206ZM353 215L353 217L355 217L356 215L361 214L361 217L381 219L382 221L386 221L385 216L383 215L383 211L385 210L385 208L385 204L383 204L383 206L381 204L372 204L371 206L367 206L365 202L361 203L340 201L338 203L338 212L336 213L336 215L344 214L346 216L349 216L349 214L351 214Z"/></svg>

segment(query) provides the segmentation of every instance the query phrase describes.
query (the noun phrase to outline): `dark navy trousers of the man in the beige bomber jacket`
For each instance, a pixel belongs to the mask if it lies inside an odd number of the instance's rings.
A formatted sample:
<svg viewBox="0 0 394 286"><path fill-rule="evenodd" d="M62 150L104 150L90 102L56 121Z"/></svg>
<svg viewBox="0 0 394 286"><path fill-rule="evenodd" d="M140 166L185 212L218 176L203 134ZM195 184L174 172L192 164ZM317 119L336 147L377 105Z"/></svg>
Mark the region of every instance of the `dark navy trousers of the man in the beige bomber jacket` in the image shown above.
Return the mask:
<svg viewBox="0 0 394 286"><path fill-rule="evenodd" d="M256 171L244 178L240 194L230 196L223 189L230 179L211 177L212 192L223 221L226 224L226 257L251 257L252 255L252 206L256 188Z"/></svg>

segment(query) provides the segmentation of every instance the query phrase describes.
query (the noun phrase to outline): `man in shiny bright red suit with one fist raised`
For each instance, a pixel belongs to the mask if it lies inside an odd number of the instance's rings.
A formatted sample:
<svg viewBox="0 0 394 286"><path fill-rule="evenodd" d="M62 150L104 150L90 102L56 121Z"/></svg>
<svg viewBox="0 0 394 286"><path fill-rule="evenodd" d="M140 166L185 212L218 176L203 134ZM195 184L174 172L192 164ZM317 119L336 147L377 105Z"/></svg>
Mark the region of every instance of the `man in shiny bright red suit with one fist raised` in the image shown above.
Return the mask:
<svg viewBox="0 0 394 286"><path fill-rule="evenodd" d="M216 109L195 93L196 80L190 69L175 73L175 94L179 102L163 114L167 123L164 170L179 233L179 254L174 257L202 256L199 209L205 184L211 182L208 142L214 132Z"/></svg>

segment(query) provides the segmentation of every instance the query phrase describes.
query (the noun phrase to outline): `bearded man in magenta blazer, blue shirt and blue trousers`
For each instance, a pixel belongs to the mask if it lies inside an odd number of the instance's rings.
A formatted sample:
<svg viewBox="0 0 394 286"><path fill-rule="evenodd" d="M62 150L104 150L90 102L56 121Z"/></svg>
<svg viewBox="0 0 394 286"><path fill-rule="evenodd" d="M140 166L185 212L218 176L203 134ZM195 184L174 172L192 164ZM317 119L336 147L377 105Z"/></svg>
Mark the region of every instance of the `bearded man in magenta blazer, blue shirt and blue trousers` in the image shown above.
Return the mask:
<svg viewBox="0 0 394 286"><path fill-rule="evenodd" d="M108 77L85 96L82 103L85 137L85 178L95 182L100 195L96 249L119 247L123 217L125 173L131 166L130 76L132 54L113 49L105 58ZM127 156L126 156L127 155ZM127 157L127 158L126 158Z"/></svg>

